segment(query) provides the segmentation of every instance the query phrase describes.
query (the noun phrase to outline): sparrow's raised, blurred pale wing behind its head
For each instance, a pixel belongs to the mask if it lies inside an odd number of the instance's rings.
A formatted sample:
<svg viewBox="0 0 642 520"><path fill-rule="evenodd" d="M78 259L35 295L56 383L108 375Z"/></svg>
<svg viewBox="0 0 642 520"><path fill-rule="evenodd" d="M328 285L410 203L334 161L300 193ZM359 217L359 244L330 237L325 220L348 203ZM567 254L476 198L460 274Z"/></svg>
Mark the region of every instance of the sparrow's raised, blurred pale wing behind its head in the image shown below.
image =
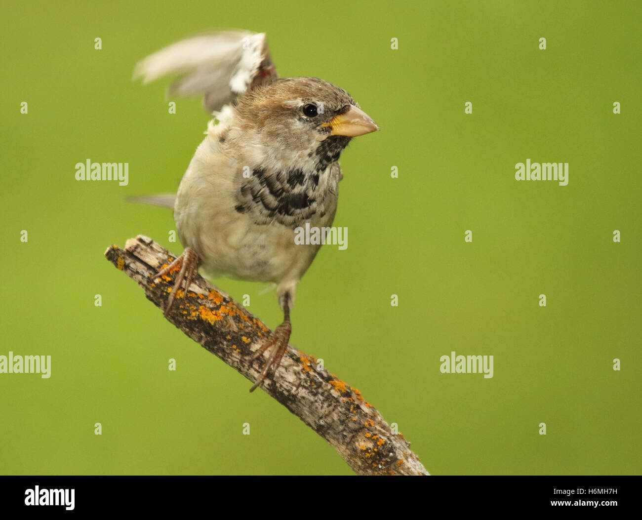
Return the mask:
<svg viewBox="0 0 642 520"><path fill-rule="evenodd" d="M169 94L204 96L208 112L221 110L243 92L272 83L277 71L265 33L221 31L180 40L136 64L134 79L153 82L178 75Z"/></svg>

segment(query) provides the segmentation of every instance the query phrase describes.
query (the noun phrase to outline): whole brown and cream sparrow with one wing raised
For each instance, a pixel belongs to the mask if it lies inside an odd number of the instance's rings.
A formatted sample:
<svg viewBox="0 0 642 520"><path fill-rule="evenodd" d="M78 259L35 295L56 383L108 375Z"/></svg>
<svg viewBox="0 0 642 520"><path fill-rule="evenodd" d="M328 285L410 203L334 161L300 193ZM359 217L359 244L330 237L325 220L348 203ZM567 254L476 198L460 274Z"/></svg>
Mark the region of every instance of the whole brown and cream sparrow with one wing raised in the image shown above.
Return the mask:
<svg viewBox="0 0 642 520"><path fill-rule="evenodd" d="M347 91L308 76L280 78L265 33L225 30L180 40L135 65L143 84L177 76L173 96L203 96L213 116L176 196L142 202L173 207L184 251L156 277L179 270L164 311L201 270L207 277L277 284L283 321L250 361L269 351L253 392L275 377L291 335L297 284L320 244L295 230L332 225L352 137L379 130ZM261 367L259 367L259 370Z"/></svg>

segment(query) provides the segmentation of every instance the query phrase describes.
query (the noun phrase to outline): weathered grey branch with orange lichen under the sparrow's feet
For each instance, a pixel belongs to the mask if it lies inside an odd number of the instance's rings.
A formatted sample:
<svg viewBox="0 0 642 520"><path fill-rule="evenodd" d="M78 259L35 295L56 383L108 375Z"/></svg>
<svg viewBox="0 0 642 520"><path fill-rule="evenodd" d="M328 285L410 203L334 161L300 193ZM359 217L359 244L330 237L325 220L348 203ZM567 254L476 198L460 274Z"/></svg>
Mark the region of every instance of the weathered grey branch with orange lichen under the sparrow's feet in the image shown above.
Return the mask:
<svg viewBox="0 0 642 520"><path fill-rule="evenodd" d="M125 249L112 245L105 256L144 289L148 300L165 308L176 273L170 273L171 278L152 277L174 259L166 249L139 235L129 239ZM247 379L256 381L263 360L251 363L250 354L270 329L228 295L196 275L187 295L179 291L167 319ZM288 346L275 377L268 377L261 388L334 446L358 474L428 474L403 435L392 433L356 388L327 370L319 370L313 356Z"/></svg>

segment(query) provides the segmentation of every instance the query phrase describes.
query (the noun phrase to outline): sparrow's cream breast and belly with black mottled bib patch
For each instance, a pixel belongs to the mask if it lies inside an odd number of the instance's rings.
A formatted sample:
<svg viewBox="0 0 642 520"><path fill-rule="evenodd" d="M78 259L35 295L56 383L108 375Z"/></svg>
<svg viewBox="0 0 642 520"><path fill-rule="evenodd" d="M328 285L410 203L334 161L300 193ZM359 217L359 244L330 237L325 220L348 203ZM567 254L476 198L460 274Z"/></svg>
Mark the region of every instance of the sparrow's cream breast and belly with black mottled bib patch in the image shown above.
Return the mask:
<svg viewBox="0 0 642 520"><path fill-rule="evenodd" d="M185 247L210 276L299 279L319 245L295 243L297 227L329 227L338 199L338 163L244 168L220 153L197 153L178 189L175 220Z"/></svg>

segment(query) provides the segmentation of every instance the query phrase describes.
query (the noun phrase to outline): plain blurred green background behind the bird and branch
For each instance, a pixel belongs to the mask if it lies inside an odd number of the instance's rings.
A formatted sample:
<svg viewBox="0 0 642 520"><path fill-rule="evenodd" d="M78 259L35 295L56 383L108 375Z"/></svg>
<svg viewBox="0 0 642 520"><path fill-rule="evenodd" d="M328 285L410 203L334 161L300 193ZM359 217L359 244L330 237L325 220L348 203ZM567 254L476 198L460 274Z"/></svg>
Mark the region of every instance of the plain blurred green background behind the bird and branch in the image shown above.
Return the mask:
<svg viewBox="0 0 642 520"><path fill-rule="evenodd" d="M300 282L291 343L433 474L639 474L641 22L634 1L3 2L0 354L52 372L0 374L0 472L352 474L103 257L137 234L182 250L171 211L124 199L175 190L208 120L196 98L168 114L168 81L134 83L134 64L238 27L381 127L343 153L349 245ZM129 185L77 182L86 159L128 162ZM526 159L569 162L568 186L517 182ZM281 322L265 284L215 283ZM494 377L441 374L451 351L492 354Z"/></svg>

